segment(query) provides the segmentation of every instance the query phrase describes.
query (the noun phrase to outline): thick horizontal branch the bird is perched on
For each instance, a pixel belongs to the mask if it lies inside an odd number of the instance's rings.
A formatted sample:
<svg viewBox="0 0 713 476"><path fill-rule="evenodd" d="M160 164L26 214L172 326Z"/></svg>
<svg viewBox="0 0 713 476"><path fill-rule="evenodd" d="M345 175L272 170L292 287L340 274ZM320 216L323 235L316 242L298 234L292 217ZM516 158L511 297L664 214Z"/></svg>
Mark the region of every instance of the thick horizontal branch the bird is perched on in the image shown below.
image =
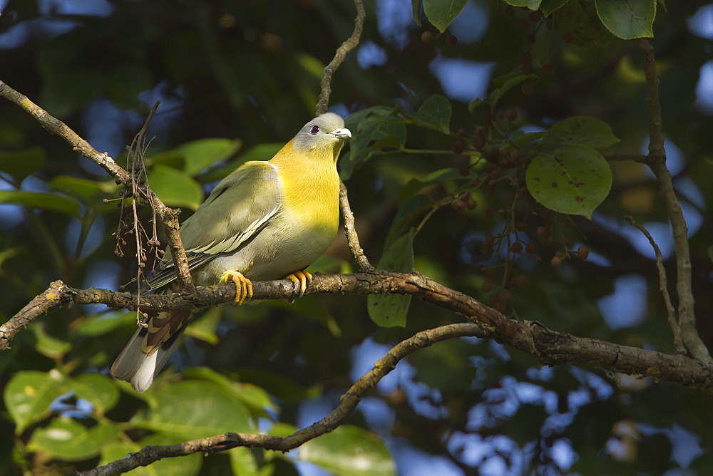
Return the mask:
<svg viewBox="0 0 713 476"><path fill-rule="evenodd" d="M72 289L63 286L63 297L54 299L52 306L61 303L106 304L108 306L131 309L135 305L135 295L109 291L108 289ZM253 283L254 299L294 299L297 292L292 281L263 281ZM629 375L655 376L660 380L678 383L713 393L713 373L709 367L693 358L670 355L631 346L581 338L552 331L545 326L530 321L508 319L495 309L436 283L417 271L411 273L390 273L378 270L376 273L361 274L315 274L312 284L305 294L411 294L429 301L443 309L448 309L478 324L483 329L483 337L490 337L506 346L511 346L538 358L540 365L560 363L585 363L588 366L607 368L610 371ZM168 309L185 309L186 306L206 307L235 299L235 286L198 286L193 294L167 294L141 296L141 309L156 312ZM19 313L9 322L28 324L32 316L39 314Z"/></svg>

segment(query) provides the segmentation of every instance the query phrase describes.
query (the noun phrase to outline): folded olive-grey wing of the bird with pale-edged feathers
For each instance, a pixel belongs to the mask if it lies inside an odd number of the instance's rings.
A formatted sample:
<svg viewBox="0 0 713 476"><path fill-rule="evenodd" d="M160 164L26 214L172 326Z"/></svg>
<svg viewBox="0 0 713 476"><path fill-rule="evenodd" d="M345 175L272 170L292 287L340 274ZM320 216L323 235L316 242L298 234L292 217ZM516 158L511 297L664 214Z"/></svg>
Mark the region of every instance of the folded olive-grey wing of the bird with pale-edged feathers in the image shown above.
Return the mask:
<svg viewBox="0 0 713 476"><path fill-rule="evenodd" d="M221 180L193 216L181 225L188 269L240 249L275 216L281 202L277 168L270 162L245 162ZM165 259L148 281L148 287L154 291L176 279L169 250ZM219 277L216 276L216 281Z"/></svg>

